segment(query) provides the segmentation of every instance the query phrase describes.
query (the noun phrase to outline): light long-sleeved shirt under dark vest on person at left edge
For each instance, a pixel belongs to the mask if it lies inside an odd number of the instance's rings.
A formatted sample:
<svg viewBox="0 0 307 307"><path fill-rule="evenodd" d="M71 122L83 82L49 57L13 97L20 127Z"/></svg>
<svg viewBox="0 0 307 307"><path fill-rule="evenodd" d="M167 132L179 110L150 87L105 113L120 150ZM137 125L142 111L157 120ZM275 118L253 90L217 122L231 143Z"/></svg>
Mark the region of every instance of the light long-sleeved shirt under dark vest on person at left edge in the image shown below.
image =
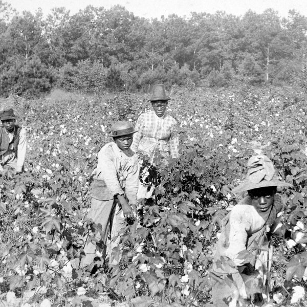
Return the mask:
<svg viewBox="0 0 307 307"><path fill-rule="evenodd" d="M21 171L23 169L25 159L26 159L26 151L27 151L27 136L26 136L26 129L21 128L19 133L19 142L17 146L17 158L14 151L13 146L13 138L14 138L14 131L8 132L4 129L4 133L8 138L8 150L3 154L1 160L4 164L10 165L16 169L16 171ZM0 140L1 141L1 140Z"/></svg>

